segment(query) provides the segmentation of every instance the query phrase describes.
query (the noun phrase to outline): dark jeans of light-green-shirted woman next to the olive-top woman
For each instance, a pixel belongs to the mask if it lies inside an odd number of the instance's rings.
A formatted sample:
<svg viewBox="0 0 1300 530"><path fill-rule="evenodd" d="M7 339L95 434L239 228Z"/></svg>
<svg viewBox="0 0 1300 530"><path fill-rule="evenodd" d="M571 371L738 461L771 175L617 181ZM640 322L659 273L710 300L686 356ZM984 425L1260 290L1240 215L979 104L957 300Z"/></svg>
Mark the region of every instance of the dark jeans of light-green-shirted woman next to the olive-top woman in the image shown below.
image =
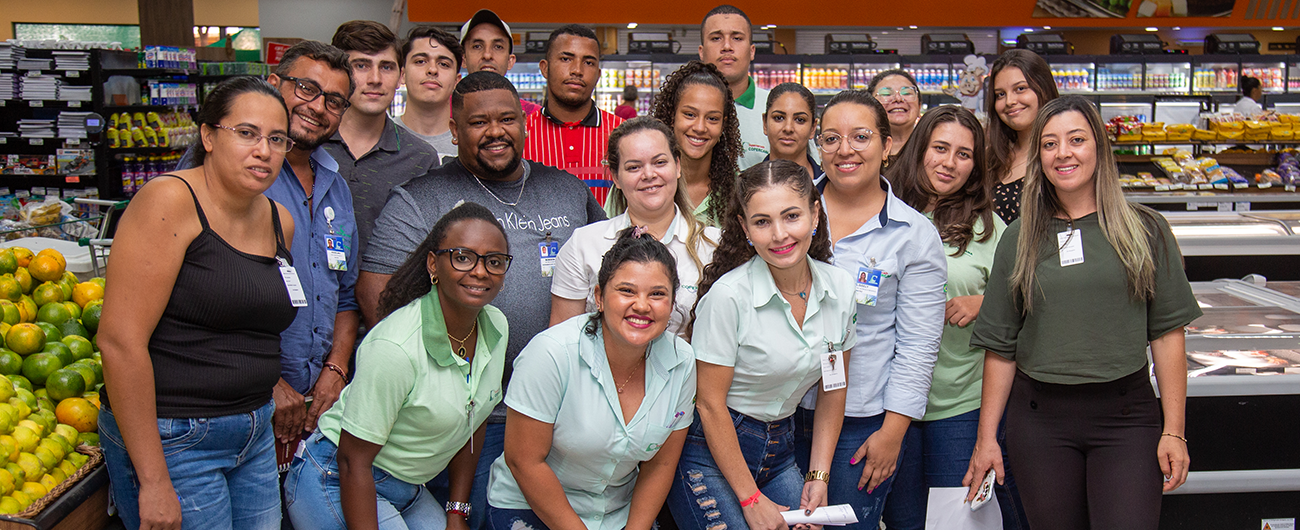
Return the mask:
<svg viewBox="0 0 1300 530"><path fill-rule="evenodd" d="M962 486L978 433L979 409L944 420L911 422L902 440L902 461L885 501L885 526L890 530L926 529L930 488Z"/></svg>

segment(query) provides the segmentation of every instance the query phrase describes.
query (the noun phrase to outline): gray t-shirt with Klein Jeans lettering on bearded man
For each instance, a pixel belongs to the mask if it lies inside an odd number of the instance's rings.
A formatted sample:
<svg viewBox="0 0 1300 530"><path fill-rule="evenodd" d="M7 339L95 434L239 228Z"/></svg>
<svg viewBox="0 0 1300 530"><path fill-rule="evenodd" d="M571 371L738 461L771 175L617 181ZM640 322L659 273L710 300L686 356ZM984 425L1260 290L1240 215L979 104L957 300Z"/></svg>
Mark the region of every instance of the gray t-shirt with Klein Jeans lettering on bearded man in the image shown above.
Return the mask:
<svg viewBox="0 0 1300 530"><path fill-rule="evenodd" d="M604 221L604 209L577 177L526 160L523 164L523 178L497 182L481 181L459 158L448 158L442 168L394 187L361 257L361 270L393 274L456 203L478 203L491 210L515 256L491 303L510 322L503 383L510 382L519 352L550 323L551 277L542 275L540 244L550 236L556 244L551 248L559 249L575 229Z"/></svg>

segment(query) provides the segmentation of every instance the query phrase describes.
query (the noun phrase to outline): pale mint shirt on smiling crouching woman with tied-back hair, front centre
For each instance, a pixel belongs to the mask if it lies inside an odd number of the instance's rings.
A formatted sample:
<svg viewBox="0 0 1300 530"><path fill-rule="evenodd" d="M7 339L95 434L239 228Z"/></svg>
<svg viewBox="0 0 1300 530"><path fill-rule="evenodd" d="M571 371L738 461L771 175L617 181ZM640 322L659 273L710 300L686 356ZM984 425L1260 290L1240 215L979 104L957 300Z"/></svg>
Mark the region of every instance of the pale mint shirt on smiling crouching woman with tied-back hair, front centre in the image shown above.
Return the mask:
<svg viewBox="0 0 1300 530"><path fill-rule="evenodd" d="M524 347L515 360L506 405L552 425L546 465L586 527L620 530L628 525L640 464L653 459L672 431L694 420L694 353L672 333L650 342L646 395L624 421L604 356L604 330L588 335L589 318L590 313L560 322ZM488 503L530 509L504 455L491 465Z"/></svg>

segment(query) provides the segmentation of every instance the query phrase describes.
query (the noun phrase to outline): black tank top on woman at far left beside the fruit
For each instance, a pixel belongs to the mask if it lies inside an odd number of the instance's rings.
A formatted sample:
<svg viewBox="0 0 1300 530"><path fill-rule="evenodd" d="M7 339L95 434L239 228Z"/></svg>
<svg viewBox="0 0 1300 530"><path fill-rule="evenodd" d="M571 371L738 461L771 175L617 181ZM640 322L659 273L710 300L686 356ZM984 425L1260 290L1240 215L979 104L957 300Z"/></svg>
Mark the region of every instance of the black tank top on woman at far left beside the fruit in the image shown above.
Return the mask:
<svg viewBox="0 0 1300 530"><path fill-rule="evenodd" d="M277 257L244 253L208 226L194 188L188 182L185 187L203 231L186 248L172 297L150 336L157 416L252 412L270 400L280 381L280 334L298 314L277 262L292 264L280 212L268 197Z"/></svg>

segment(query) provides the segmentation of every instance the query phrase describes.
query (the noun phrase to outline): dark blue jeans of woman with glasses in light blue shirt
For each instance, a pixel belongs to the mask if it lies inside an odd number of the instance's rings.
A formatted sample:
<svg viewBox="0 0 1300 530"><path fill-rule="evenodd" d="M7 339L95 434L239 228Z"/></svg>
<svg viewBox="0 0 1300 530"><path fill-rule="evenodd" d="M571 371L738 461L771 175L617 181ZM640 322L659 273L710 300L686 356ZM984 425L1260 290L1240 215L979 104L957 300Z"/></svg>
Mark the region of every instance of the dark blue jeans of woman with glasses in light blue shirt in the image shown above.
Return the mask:
<svg viewBox="0 0 1300 530"><path fill-rule="evenodd" d="M809 465L812 453L812 416L814 412L805 408L794 412L800 426L794 444L798 447L800 465L805 468ZM827 496L829 498L828 504L849 504L857 512L858 522L845 525L845 530L876 530L880 527L880 514L884 511L889 488L893 486L893 475L887 478L880 486L876 486L870 494L866 490L859 491L858 479L862 478L862 462L850 465L849 460L853 459L853 453L858 452L858 448L863 443L867 443L867 438L880 430L884 423L884 413L866 418L846 416L844 426L840 427L840 440L835 446L835 456L831 457L831 486L827 488ZM904 452L902 449L898 451L900 461Z"/></svg>

